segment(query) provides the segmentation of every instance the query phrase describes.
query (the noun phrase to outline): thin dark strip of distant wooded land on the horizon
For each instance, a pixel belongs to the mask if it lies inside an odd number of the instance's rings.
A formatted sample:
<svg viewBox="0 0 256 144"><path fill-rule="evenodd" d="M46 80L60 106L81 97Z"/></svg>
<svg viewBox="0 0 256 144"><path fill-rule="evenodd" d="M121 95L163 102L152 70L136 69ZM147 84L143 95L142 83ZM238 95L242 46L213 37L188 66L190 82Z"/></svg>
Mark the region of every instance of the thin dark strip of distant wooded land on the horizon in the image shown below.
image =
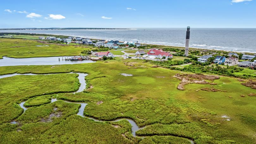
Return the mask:
<svg viewBox="0 0 256 144"><path fill-rule="evenodd" d="M125 28L13 28L0 30L129 30Z"/></svg>

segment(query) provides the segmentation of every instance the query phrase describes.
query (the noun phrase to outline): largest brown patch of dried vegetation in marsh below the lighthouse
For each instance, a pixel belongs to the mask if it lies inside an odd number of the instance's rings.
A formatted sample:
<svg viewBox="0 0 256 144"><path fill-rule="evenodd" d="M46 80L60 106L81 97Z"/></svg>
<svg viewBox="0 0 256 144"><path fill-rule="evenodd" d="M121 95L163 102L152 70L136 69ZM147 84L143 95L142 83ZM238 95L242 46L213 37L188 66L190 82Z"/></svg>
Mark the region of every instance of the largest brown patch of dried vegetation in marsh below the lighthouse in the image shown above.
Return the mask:
<svg viewBox="0 0 256 144"><path fill-rule="evenodd" d="M181 80L180 84L178 85L178 90L185 90L184 86L187 84L210 84L210 85L216 85L216 83L210 83L205 80L214 81L216 79L219 79L219 76L215 75L201 75L201 74L179 74L177 73L174 75L175 78Z"/></svg>

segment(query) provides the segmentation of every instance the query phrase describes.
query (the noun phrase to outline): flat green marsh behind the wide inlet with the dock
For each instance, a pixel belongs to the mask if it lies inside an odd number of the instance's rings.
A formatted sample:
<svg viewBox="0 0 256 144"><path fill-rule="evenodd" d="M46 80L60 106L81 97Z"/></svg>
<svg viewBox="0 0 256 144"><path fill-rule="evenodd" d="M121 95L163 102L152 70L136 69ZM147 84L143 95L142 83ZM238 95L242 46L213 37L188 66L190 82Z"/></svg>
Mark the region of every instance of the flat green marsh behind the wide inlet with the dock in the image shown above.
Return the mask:
<svg viewBox="0 0 256 144"><path fill-rule="evenodd" d="M49 47L37 47L37 45L49 45ZM54 43L41 43L26 39L0 38L0 58L32 58L51 56L80 55L84 50L91 50L92 46L58 45Z"/></svg>

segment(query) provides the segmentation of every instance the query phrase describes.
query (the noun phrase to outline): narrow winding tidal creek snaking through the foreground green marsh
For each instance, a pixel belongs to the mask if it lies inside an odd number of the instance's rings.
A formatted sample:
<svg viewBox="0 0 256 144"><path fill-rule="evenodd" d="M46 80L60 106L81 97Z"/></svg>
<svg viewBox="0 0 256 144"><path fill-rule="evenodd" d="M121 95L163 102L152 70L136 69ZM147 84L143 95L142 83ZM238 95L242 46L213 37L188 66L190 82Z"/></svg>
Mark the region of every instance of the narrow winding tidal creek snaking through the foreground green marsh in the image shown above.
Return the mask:
<svg viewBox="0 0 256 144"><path fill-rule="evenodd" d="M70 73L75 73L75 72L70 72ZM60 73L57 73L57 74L60 74ZM81 83L79 89L77 91L75 91L74 93L76 92L82 92L85 88L86 88L86 81L85 81L85 76L87 76L88 74L85 74L85 73L76 73L78 74L78 79L79 79L79 82ZM11 77L11 76L15 76L15 75L56 75L56 74L33 74L33 73L27 73L27 74L18 74L18 73L14 73L14 74L7 74L7 75L0 75L0 79L1 78L6 78L6 77ZM55 102L57 101L57 99L52 99L51 100L51 103L52 102ZM25 101L26 102L26 101ZM20 107L23 109L23 113L27 110L27 108L24 106L24 103L25 102L21 102L19 105ZM99 119L95 119L95 118L91 118L91 117L87 117L87 116L84 116L83 113L84 113L84 109L87 105L87 103L83 103L83 102L70 102L70 101L64 101L64 102L67 102L67 103L76 103L76 104L80 104L80 108L79 108L79 111L77 113L77 115L80 115L81 117L84 117L84 118L87 118L87 119L92 119L94 121L97 121L97 122L117 122L117 121L120 121L120 120L127 120L130 124L131 124L131 130L132 130L132 135L134 137L136 137L136 131L137 130L141 130L143 129L144 127L139 127L134 120L132 119L127 119L127 118L121 118L121 119L115 119L115 120L112 120L112 121L103 121L103 120L99 120ZM23 114L22 113L22 114ZM12 123L13 124L13 123ZM171 135L170 135L171 136ZM140 137L140 138L144 138L146 136L137 136L137 137ZM184 137L181 137L181 138L184 138ZM187 138L188 139L188 138ZM191 139L188 139L192 144L194 144L194 141L191 140Z"/></svg>

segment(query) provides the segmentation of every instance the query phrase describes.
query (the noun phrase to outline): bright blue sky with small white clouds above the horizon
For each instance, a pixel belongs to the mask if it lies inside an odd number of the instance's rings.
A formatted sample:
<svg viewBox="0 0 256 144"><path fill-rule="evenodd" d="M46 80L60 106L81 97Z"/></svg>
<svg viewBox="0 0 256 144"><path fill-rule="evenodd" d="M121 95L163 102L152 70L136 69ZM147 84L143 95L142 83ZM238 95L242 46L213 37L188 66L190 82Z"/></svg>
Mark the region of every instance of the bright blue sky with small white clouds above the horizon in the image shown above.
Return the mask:
<svg viewBox="0 0 256 144"><path fill-rule="evenodd" d="M256 0L12 0L0 28L255 28Z"/></svg>

